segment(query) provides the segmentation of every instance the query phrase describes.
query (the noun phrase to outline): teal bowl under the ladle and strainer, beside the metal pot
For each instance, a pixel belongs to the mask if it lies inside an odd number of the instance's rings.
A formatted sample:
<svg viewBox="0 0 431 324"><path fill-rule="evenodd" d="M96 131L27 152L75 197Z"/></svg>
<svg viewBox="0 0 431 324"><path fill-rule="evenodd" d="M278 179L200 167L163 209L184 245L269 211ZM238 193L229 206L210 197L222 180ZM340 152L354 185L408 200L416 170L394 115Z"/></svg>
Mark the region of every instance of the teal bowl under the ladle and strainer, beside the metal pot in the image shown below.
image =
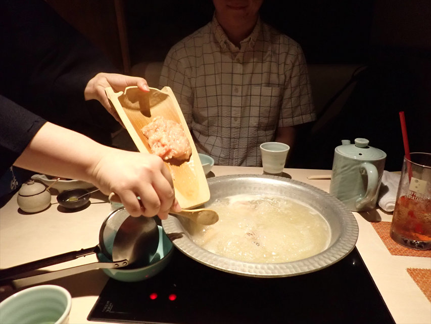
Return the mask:
<svg viewBox="0 0 431 324"><path fill-rule="evenodd" d="M151 278L162 271L169 263L173 255L173 245L168 236L159 228L159 246L150 264L141 268L132 269L102 269L108 276L119 281L134 282ZM100 262L112 262L103 253L98 253L97 258Z"/></svg>

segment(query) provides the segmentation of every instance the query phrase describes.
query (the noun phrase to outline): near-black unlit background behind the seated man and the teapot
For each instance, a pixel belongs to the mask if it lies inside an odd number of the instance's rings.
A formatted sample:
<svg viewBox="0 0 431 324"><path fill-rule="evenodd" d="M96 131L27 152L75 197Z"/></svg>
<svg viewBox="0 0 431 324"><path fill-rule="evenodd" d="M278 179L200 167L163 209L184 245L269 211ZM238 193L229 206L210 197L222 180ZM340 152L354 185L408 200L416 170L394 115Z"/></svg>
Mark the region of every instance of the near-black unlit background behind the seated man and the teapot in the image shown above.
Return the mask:
<svg viewBox="0 0 431 324"><path fill-rule="evenodd" d="M47 2L126 74L139 62L163 61L214 11L211 0ZM367 66L335 118L317 132L300 130L290 167L331 169L341 139L364 137L388 154L387 170L400 170L399 111L410 150L431 152L431 1L264 0L261 17L294 38L309 64Z"/></svg>

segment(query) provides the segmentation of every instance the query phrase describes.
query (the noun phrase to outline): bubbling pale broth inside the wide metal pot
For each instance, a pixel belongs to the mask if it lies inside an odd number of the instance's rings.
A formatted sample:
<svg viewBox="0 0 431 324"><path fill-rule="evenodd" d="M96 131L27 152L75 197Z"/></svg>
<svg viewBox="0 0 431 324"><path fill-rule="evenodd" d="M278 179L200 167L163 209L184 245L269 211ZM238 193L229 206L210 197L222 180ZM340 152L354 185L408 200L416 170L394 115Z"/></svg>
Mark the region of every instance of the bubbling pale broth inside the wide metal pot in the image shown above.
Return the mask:
<svg viewBox="0 0 431 324"><path fill-rule="evenodd" d="M207 206L219 214L210 226L189 224L200 247L227 258L281 263L325 250L330 228L324 217L299 200L274 195L240 194Z"/></svg>

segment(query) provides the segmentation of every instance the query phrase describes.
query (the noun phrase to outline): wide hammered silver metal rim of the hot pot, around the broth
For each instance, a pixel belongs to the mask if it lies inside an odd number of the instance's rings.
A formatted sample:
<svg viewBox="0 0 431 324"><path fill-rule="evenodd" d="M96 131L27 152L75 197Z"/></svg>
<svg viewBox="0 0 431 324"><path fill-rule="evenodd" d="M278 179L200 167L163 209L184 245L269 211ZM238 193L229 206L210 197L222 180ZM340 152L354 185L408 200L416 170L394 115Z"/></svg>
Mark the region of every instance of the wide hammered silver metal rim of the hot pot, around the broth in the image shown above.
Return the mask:
<svg viewBox="0 0 431 324"><path fill-rule="evenodd" d="M328 247L321 253L285 263L251 263L219 256L199 247L187 231L188 219L169 215L162 221L163 228L173 244L188 257L209 267L252 277L294 276L326 268L348 255L358 238L358 224L344 204L327 192L309 184L267 175L229 175L208 179L211 198L236 194L271 194L300 200L319 212L328 222L331 232Z"/></svg>

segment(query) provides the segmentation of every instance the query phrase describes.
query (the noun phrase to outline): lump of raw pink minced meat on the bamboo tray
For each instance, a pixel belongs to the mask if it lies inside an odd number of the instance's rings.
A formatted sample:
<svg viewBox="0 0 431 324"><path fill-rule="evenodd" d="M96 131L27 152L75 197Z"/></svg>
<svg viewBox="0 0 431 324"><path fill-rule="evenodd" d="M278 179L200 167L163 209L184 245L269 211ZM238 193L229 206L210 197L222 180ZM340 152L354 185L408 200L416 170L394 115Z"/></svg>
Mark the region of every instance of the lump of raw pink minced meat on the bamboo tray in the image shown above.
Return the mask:
<svg viewBox="0 0 431 324"><path fill-rule="evenodd" d="M186 160L190 157L190 143L181 125L175 121L157 116L141 131L148 138L152 153L162 159Z"/></svg>

